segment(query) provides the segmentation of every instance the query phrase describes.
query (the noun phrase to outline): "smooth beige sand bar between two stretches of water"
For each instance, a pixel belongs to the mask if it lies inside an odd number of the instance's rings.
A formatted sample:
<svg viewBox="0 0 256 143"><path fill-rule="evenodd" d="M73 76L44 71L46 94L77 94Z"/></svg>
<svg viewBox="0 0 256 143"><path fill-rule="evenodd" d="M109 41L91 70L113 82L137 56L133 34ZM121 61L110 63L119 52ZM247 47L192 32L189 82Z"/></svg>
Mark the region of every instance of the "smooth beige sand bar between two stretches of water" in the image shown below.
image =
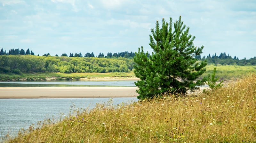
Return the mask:
<svg viewBox="0 0 256 143"><path fill-rule="evenodd" d="M0 87L4 98L137 97L138 87Z"/></svg>

